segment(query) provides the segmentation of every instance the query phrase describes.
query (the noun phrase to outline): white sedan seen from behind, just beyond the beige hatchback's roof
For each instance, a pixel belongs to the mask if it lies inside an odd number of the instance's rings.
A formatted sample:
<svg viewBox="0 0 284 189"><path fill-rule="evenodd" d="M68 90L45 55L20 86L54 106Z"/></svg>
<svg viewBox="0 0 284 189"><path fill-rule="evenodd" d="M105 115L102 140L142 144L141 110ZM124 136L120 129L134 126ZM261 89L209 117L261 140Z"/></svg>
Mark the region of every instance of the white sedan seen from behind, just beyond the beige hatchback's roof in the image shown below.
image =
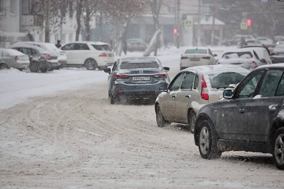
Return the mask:
<svg viewBox="0 0 284 189"><path fill-rule="evenodd" d="M216 54L213 54L209 48L187 49L180 59L180 70L193 66L214 65Z"/></svg>

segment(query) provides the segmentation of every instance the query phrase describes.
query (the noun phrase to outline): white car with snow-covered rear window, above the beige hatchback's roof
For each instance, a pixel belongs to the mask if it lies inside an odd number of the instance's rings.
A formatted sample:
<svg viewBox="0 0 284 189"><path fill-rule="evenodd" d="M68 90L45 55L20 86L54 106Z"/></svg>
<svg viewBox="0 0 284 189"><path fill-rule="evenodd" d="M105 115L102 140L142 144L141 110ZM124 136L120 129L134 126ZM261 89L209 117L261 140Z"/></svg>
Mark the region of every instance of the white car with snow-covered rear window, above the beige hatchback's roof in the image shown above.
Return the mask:
<svg viewBox="0 0 284 189"><path fill-rule="evenodd" d="M250 71L258 66L265 65L252 48L236 48L224 51L217 64L235 65Z"/></svg>

